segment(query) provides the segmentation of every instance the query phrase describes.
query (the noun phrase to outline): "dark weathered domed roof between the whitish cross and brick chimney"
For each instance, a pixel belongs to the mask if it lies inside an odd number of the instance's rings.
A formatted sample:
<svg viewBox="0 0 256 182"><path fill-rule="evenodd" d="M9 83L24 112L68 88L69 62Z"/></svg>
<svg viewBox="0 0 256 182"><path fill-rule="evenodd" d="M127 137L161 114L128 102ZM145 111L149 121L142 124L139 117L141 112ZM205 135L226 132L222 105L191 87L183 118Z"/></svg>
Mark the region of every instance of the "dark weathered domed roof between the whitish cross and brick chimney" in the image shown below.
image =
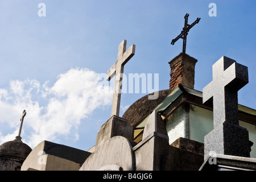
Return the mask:
<svg viewBox="0 0 256 182"><path fill-rule="evenodd" d="M171 89L160 90L158 98L156 100L149 100L148 96L154 93L148 94L136 102L134 102L126 111L123 113L122 118L127 119L131 126L137 125L142 119L147 117L148 114L152 113L156 106L158 106L164 98L172 92Z"/></svg>

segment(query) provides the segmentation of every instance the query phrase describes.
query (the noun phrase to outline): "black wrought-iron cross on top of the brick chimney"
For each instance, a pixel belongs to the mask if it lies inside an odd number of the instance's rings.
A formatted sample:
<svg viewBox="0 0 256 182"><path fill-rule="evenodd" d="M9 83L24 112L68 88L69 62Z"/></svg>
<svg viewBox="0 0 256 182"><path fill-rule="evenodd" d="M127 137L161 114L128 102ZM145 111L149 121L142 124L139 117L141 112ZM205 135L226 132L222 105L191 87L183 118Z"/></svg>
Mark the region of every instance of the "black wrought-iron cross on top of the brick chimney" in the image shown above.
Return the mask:
<svg viewBox="0 0 256 182"><path fill-rule="evenodd" d="M192 24L188 24L188 16L189 16L189 14L186 14L184 16L184 18L185 18L184 28L182 29L180 35L178 35L175 39L172 39L172 42L171 42L171 44L174 45L174 43L179 38L183 39L183 50L182 50L183 53L186 52L187 35L188 35L190 28L192 28L196 23L199 23L199 20L201 19L201 18L197 18L195 20L195 22L193 22Z"/></svg>

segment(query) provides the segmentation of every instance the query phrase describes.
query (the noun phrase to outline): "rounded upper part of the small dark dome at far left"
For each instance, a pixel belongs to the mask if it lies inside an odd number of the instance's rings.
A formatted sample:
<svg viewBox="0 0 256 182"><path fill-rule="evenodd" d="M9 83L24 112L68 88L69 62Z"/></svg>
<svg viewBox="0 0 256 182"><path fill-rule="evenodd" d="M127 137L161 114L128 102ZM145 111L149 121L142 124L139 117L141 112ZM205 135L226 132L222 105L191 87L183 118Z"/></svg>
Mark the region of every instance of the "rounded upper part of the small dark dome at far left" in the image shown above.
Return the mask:
<svg viewBox="0 0 256 182"><path fill-rule="evenodd" d="M0 146L0 158L25 160L32 149L20 139L3 143Z"/></svg>

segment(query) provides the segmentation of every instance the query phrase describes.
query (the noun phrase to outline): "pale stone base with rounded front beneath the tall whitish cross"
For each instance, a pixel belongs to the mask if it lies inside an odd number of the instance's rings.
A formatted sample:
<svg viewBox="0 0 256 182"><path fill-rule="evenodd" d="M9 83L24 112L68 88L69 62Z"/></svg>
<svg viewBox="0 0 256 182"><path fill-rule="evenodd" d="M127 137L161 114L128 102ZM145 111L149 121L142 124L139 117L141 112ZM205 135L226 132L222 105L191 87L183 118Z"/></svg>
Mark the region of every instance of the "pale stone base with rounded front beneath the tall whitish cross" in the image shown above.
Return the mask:
<svg viewBox="0 0 256 182"><path fill-rule="evenodd" d="M135 160L131 143L133 144L133 127L126 119L113 115L101 126L94 151L79 170L134 170Z"/></svg>

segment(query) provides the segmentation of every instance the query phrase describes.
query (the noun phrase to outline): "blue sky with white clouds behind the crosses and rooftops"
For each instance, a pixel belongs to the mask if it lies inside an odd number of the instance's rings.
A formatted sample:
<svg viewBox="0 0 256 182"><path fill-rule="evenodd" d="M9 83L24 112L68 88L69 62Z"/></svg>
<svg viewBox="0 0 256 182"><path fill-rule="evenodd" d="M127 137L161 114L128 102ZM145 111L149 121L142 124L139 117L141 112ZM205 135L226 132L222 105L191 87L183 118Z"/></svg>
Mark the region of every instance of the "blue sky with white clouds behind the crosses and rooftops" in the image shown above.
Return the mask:
<svg viewBox="0 0 256 182"><path fill-rule="evenodd" d="M38 16L39 3L46 16ZM215 3L217 16L209 16ZM198 60L195 89L212 81L212 65L227 56L248 67L238 102L256 104L256 2L247 1L0 1L0 144L18 135L32 148L43 140L88 150L110 118L112 94L97 77L117 60L118 45L136 45L128 73L158 73L168 89L172 60L182 51L184 15L201 18L188 33L186 53ZM121 111L147 93L123 93Z"/></svg>

